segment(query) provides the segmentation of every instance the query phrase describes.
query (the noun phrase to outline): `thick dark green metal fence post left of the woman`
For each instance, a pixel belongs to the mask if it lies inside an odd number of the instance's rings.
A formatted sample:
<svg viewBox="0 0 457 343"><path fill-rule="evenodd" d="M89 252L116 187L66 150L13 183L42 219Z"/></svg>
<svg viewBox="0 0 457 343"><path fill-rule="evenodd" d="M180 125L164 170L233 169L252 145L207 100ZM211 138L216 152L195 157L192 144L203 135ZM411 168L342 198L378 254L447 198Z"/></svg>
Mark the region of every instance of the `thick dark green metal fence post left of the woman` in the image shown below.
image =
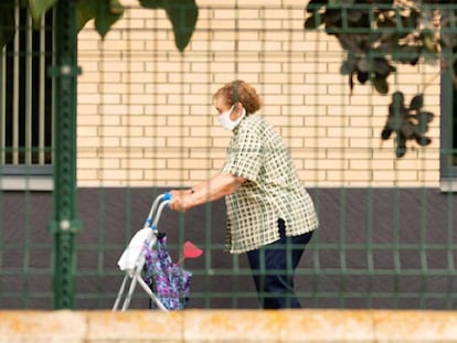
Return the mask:
<svg viewBox="0 0 457 343"><path fill-rule="evenodd" d="M53 78L54 129L53 164L53 292L54 309L75 306L75 235L81 223L75 216L76 203L76 77L77 32L76 0L60 0L54 12Z"/></svg>

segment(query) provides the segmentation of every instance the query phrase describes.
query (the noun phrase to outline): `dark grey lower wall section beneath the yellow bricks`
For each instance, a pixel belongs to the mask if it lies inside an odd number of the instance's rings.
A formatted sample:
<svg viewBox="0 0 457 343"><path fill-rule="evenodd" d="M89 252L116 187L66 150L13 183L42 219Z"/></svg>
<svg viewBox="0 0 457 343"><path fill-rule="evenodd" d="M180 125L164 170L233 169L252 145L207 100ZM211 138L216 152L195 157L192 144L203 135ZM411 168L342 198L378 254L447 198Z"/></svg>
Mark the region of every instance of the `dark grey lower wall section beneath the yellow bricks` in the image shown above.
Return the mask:
<svg viewBox="0 0 457 343"><path fill-rule="evenodd" d="M76 303L108 309L123 274L116 262L163 189L79 189ZM435 189L311 189L321 221L297 271L302 304L313 308L454 308L457 303L457 202ZM0 308L52 307L52 197L3 192ZM187 260L191 308L256 308L244 255L224 251L225 205L159 222L173 259L184 240L204 249ZM23 294L23 297L18 297ZM132 308L147 308L140 292Z"/></svg>

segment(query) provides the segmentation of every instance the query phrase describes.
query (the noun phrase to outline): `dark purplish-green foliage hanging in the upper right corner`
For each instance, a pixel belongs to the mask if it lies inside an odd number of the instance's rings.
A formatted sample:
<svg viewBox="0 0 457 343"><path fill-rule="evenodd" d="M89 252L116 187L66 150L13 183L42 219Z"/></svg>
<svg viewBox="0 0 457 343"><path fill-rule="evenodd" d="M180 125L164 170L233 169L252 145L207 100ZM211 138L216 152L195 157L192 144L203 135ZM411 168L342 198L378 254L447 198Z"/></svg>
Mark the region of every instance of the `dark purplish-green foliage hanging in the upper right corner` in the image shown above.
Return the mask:
<svg viewBox="0 0 457 343"><path fill-rule="evenodd" d="M387 94L389 76L396 72L395 65L436 61L443 51L457 51L456 34L446 30L455 26L456 8L451 11L446 7L453 1L439 1L439 7L437 3L426 0L310 0L306 7L305 29L323 28L347 51L341 73L348 75L351 93L355 82L370 82L380 94ZM456 83L456 77L454 79ZM421 146L431 142L424 137L425 124L434 115L416 108L418 99L422 99L422 108L423 94L406 108L403 94L393 94L392 104L396 105L390 106L382 139L396 133L398 158L404 156L408 139ZM418 112L413 115L411 111Z"/></svg>

